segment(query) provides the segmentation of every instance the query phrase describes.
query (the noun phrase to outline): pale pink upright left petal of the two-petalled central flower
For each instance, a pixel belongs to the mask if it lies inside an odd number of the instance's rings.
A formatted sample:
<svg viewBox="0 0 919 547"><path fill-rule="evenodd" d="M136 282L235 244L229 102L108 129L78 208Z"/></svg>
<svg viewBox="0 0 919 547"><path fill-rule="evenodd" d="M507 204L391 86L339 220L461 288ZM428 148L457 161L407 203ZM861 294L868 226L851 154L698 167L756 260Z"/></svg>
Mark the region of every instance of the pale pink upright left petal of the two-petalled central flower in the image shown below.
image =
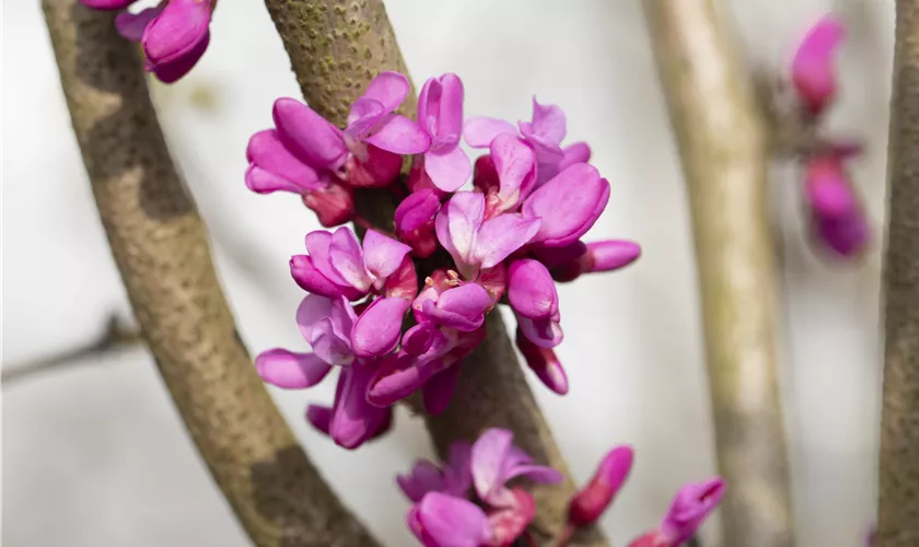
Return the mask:
<svg viewBox="0 0 919 547"><path fill-rule="evenodd" d="M485 217L485 197L473 191L457 191L441 209L434 221L438 241L456 261L472 264L476 237Z"/></svg>

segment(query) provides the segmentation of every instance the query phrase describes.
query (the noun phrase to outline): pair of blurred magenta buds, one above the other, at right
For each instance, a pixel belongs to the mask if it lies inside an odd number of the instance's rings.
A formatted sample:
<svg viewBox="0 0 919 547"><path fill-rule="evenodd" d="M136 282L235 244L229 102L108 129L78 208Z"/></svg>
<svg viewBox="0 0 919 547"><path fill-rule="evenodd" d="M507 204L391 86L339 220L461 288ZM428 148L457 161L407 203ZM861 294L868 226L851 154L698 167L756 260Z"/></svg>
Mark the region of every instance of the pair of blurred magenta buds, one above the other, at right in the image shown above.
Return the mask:
<svg viewBox="0 0 919 547"><path fill-rule="evenodd" d="M791 79L805 124L814 127L824 118L836 96L836 50L845 37L841 22L831 16L818 21L798 47ZM842 257L859 254L870 237L862 205L846 173L846 162L861 146L830 141L804 154L805 201L817 240Z"/></svg>

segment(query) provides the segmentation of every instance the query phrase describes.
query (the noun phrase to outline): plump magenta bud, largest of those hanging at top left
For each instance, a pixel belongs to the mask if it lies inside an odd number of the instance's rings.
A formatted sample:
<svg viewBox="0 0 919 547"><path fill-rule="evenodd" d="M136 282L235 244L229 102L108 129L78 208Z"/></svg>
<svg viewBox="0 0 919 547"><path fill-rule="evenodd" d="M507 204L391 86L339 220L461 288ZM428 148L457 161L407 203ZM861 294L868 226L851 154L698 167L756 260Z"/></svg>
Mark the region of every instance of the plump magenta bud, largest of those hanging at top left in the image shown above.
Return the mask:
<svg viewBox="0 0 919 547"><path fill-rule="evenodd" d="M147 70L164 83L188 73L210 43L210 0L170 0L143 30Z"/></svg>

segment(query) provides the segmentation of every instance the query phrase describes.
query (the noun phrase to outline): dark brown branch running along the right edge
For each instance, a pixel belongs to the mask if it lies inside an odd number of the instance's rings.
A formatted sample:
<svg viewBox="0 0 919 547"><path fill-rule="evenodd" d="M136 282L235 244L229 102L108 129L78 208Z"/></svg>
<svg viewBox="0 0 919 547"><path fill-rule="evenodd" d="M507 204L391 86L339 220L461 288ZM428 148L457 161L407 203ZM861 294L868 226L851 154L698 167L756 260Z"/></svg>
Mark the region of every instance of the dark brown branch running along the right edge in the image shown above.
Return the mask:
<svg viewBox="0 0 919 547"><path fill-rule="evenodd" d="M919 545L919 1L898 0L876 547Z"/></svg>

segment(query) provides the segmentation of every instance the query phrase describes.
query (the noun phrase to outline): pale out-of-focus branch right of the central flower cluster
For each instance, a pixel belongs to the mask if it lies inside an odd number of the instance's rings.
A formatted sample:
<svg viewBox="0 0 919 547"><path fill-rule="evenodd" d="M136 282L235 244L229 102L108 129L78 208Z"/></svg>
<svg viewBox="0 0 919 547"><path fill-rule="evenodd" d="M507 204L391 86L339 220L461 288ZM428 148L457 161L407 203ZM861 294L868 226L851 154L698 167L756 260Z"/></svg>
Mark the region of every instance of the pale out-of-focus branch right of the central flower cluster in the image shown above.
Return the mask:
<svg viewBox="0 0 919 547"><path fill-rule="evenodd" d="M693 213L723 543L790 546L764 124L712 0L644 0L644 11Z"/></svg>

